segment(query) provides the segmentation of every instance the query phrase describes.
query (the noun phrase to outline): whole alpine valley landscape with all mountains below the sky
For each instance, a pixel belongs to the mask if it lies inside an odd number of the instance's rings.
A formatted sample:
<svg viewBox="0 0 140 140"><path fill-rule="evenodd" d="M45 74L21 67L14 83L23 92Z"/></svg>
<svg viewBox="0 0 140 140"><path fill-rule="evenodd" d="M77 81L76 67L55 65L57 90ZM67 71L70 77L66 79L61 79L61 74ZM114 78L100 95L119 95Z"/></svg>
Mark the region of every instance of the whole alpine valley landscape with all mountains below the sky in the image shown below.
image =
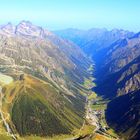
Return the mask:
<svg viewBox="0 0 140 140"><path fill-rule="evenodd" d="M0 26L0 140L138 140L140 33Z"/></svg>

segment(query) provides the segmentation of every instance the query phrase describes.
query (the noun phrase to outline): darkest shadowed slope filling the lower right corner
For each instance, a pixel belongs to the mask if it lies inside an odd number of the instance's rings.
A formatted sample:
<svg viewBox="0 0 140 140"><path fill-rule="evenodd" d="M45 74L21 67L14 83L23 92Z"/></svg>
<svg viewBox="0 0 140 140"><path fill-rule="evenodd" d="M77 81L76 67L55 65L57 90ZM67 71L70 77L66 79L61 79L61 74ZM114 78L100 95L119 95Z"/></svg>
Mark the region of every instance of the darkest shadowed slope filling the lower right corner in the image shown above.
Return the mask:
<svg viewBox="0 0 140 140"><path fill-rule="evenodd" d="M140 90L120 96L108 104L107 121L126 140L140 137Z"/></svg>

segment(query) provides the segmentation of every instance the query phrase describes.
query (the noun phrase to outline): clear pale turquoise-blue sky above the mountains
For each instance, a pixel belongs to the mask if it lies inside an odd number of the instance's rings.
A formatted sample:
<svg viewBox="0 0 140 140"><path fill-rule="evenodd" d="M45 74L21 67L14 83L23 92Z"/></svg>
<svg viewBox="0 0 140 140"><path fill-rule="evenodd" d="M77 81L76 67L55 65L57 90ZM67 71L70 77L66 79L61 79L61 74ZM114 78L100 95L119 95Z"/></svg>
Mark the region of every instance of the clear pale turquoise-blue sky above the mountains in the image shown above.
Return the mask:
<svg viewBox="0 0 140 140"><path fill-rule="evenodd" d="M140 0L0 0L0 24L29 20L51 30L140 31Z"/></svg>

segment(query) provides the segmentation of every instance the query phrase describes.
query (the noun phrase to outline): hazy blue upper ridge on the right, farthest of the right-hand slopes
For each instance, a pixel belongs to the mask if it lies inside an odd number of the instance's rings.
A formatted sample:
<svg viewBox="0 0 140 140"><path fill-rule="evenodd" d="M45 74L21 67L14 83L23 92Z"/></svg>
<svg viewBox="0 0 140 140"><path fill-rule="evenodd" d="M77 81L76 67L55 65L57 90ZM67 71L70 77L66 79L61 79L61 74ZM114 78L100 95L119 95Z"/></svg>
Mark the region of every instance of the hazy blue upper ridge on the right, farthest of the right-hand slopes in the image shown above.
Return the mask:
<svg viewBox="0 0 140 140"><path fill-rule="evenodd" d="M107 49L103 49L101 61L97 64L98 73L104 76L115 73L137 58L140 54L139 38L134 35L131 38L118 40Z"/></svg>

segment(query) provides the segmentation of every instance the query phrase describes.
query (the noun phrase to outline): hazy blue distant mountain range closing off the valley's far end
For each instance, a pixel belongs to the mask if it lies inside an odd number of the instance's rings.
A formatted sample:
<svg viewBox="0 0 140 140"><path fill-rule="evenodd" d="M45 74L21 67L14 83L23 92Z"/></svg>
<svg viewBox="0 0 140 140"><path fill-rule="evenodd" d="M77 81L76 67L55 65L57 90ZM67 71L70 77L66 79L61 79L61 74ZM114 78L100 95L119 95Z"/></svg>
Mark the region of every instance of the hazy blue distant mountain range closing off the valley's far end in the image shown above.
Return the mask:
<svg viewBox="0 0 140 140"><path fill-rule="evenodd" d="M92 28L90 30L66 29L55 31L55 33L65 39L71 40L79 45L88 55L95 57L102 48L109 47L113 42L132 36L134 33L113 29L111 31L102 28Z"/></svg>

